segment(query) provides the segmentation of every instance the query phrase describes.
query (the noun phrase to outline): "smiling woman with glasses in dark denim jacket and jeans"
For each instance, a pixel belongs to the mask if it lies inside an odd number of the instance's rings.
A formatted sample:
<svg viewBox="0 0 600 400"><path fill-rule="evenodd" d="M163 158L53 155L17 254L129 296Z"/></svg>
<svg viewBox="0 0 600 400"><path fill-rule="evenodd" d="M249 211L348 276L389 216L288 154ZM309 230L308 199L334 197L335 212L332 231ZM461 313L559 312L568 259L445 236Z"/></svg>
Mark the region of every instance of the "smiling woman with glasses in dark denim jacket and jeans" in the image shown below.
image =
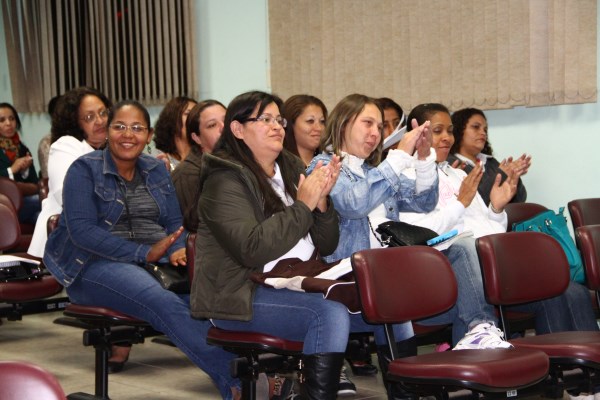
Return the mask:
<svg viewBox="0 0 600 400"><path fill-rule="evenodd" d="M142 154L152 139L148 111L123 101L111 108L107 124L104 150L78 158L67 172L63 212L44 263L75 303L150 323L231 399L239 386L229 373L233 355L206 344L210 322L191 317L188 295L163 289L140 266L186 264L175 188L163 163Z"/></svg>

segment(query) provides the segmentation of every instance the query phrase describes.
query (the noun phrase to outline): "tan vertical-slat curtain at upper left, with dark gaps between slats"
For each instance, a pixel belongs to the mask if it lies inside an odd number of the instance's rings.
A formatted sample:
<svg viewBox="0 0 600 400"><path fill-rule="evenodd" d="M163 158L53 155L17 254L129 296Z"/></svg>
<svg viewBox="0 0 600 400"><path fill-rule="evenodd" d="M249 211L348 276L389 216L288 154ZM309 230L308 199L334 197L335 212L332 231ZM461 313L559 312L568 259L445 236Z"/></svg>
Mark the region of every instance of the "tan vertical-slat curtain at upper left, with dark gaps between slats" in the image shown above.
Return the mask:
<svg viewBox="0 0 600 400"><path fill-rule="evenodd" d="M192 0L0 0L13 102L92 86L114 101L198 96Z"/></svg>

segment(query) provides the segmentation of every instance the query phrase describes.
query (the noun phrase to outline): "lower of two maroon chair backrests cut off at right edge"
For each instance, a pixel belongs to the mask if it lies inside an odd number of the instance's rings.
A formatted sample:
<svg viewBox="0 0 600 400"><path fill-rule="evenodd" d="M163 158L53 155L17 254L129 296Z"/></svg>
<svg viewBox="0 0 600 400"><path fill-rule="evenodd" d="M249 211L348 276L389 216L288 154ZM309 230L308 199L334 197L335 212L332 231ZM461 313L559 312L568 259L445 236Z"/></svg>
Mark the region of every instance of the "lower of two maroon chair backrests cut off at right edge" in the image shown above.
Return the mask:
<svg viewBox="0 0 600 400"><path fill-rule="evenodd" d="M576 228L575 240L581 250L586 285L592 290L600 290L600 225Z"/></svg>

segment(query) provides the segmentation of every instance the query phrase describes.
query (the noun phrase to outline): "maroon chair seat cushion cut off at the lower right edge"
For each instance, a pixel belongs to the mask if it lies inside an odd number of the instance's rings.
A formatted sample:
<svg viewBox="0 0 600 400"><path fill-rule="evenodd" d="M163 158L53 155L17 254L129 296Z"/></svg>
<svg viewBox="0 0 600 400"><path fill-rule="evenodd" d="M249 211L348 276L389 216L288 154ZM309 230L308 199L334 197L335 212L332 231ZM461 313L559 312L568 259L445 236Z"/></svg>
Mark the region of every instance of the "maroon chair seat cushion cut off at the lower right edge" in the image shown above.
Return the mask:
<svg viewBox="0 0 600 400"><path fill-rule="evenodd" d="M549 357L576 358L600 364L600 332L558 332L510 341L515 347L540 350Z"/></svg>

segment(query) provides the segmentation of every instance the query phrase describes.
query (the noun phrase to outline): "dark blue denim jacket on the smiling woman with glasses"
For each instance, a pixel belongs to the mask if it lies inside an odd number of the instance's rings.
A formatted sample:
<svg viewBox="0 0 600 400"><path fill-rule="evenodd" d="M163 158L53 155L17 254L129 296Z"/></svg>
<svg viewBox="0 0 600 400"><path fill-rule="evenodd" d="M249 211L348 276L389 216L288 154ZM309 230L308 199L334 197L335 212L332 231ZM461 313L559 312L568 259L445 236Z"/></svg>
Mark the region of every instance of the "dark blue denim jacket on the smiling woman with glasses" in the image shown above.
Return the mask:
<svg viewBox="0 0 600 400"><path fill-rule="evenodd" d="M181 211L163 162L142 154L137 169L158 205L158 223L167 234L176 231L182 224ZM117 168L108 149L81 156L67 171L63 212L44 251L44 264L64 286L69 286L81 269L94 260L134 264L146 261L150 246L110 233L125 208L117 182ZM181 235L167 255L184 246Z"/></svg>

